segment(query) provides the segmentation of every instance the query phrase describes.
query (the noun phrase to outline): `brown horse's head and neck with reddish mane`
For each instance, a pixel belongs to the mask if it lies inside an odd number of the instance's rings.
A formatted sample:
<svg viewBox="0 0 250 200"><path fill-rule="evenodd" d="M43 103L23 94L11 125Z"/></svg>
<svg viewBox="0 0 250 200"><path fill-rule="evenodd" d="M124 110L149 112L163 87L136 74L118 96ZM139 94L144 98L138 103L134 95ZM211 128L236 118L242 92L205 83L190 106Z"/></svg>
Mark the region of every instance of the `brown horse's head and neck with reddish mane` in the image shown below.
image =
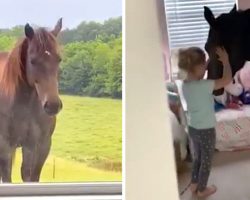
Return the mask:
<svg viewBox="0 0 250 200"><path fill-rule="evenodd" d="M34 30L25 25L25 37L9 53L6 67L0 69L2 92L14 99L21 84L36 90L38 99L48 115L56 115L62 108L58 95L58 69L61 61L56 37L62 28L59 19L52 31Z"/></svg>

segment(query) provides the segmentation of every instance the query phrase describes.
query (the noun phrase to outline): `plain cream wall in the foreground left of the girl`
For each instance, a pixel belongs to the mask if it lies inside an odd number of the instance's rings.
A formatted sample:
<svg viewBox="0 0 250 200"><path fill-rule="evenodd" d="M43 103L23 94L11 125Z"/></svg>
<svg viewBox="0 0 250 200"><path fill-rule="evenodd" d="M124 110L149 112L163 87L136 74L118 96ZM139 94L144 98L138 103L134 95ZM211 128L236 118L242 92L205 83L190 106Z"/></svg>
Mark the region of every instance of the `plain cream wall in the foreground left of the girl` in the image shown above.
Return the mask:
<svg viewBox="0 0 250 200"><path fill-rule="evenodd" d="M126 0L126 200L177 200L156 0Z"/></svg>

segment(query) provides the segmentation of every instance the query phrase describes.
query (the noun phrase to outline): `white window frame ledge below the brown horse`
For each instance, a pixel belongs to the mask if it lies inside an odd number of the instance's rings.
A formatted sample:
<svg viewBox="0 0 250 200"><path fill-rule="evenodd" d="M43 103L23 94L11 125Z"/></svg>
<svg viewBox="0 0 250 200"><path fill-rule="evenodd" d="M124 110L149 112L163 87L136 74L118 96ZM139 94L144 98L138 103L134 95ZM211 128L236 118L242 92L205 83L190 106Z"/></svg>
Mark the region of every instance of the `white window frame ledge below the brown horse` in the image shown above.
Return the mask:
<svg viewBox="0 0 250 200"><path fill-rule="evenodd" d="M22 183L0 185L0 197L55 195L121 196L122 183Z"/></svg>

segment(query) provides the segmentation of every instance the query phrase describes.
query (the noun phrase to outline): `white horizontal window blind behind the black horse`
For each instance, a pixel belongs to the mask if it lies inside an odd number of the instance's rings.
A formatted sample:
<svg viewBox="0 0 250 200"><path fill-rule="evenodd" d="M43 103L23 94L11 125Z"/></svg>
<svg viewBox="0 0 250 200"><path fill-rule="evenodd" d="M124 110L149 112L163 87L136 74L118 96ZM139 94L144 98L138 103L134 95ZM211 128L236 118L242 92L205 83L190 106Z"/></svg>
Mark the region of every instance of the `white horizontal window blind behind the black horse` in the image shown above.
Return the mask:
<svg viewBox="0 0 250 200"><path fill-rule="evenodd" d="M215 16L229 12L235 0L165 0L170 49L187 46L204 47L209 26L204 6Z"/></svg>

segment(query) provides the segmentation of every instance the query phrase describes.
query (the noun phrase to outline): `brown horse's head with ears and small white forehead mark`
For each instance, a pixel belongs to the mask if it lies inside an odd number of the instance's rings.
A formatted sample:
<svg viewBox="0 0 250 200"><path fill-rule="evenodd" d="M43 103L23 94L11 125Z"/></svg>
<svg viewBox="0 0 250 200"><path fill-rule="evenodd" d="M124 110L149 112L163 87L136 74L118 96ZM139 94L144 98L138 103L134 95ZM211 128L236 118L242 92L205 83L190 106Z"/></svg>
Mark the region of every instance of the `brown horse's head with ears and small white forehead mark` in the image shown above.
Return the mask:
<svg viewBox="0 0 250 200"><path fill-rule="evenodd" d="M44 28L34 30L29 24L25 26L27 83L35 87L42 106L49 115L57 114L62 108L57 79L61 58L56 41L61 28L62 19L52 31Z"/></svg>

